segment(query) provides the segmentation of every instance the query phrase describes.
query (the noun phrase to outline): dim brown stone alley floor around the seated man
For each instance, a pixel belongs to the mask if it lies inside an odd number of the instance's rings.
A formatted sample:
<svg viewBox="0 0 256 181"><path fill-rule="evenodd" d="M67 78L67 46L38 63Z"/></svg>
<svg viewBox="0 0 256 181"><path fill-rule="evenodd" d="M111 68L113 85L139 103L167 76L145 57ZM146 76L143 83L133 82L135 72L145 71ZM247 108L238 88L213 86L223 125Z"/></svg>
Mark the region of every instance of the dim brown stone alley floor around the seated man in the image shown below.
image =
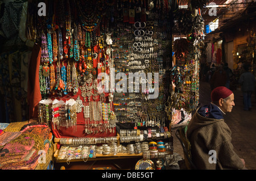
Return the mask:
<svg viewBox="0 0 256 181"><path fill-rule="evenodd" d="M246 168L256 169L256 99L252 95L251 111L243 111L242 92L233 90L235 104L231 113L224 116L226 124L232 131L232 144L234 150L245 160ZM200 82L200 105L210 102L210 86L207 82ZM172 134L175 135L175 134ZM183 158L183 150L180 142L174 136L174 153L180 154Z"/></svg>

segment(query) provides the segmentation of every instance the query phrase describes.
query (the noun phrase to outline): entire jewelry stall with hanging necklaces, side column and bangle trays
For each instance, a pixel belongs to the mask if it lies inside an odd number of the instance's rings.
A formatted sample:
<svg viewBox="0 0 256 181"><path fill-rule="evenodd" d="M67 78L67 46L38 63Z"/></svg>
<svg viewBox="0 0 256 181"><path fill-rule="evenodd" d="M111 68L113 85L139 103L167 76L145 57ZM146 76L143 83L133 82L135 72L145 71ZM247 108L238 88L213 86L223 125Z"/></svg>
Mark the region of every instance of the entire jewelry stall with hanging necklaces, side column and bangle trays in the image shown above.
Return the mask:
<svg viewBox="0 0 256 181"><path fill-rule="evenodd" d="M51 130L55 162L170 158L171 129L199 104L200 6L28 1L28 116Z"/></svg>

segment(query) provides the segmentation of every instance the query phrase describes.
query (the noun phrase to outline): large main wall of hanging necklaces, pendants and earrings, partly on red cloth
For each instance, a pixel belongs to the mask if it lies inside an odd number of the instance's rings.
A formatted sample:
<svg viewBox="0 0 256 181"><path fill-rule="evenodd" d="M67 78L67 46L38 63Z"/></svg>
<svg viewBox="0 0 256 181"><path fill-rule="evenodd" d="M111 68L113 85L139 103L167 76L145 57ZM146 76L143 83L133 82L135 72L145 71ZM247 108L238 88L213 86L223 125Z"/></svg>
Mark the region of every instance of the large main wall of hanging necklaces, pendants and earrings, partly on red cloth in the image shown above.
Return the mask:
<svg viewBox="0 0 256 181"><path fill-rule="evenodd" d="M27 20L42 48L38 119L51 125L59 143L110 144L117 132L126 145L170 138L164 111L171 67L169 2L45 1L46 16L33 11L38 3L30 2ZM170 148L162 146L159 152ZM90 148L86 155L97 151Z"/></svg>

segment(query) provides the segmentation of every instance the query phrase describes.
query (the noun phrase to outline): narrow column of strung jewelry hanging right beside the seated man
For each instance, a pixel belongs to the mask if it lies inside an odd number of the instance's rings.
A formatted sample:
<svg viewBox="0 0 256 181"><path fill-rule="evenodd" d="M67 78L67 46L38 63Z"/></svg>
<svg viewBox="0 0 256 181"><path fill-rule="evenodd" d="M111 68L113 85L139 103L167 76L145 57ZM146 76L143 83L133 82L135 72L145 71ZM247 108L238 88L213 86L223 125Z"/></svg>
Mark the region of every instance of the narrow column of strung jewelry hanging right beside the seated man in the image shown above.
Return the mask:
<svg viewBox="0 0 256 181"><path fill-rule="evenodd" d="M195 7L194 7L195 6ZM189 114L199 105L199 59L204 47L204 20L198 5L178 9L174 13L176 40L173 44L174 66L170 69L173 89L166 103L171 125L177 122L177 112Z"/></svg>

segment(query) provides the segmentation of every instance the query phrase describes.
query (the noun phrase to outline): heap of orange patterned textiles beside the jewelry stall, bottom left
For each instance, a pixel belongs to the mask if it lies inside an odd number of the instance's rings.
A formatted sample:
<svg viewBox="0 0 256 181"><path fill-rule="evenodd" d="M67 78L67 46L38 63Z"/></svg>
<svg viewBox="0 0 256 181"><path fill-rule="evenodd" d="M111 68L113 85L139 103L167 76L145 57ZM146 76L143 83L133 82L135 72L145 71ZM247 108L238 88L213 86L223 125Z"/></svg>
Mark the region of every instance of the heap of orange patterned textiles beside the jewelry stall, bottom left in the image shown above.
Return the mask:
<svg viewBox="0 0 256 181"><path fill-rule="evenodd" d="M17 129L16 125L12 124L11 130ZM19 131L19 135L17 132L5 132L10 140L0 147L2 170L35 169L39 163L39 150L47 153L51 146L52 133L46 123L29 123L22 127L19 124ZM14 134L17 134L16 137L11 137Z"/></svg>

